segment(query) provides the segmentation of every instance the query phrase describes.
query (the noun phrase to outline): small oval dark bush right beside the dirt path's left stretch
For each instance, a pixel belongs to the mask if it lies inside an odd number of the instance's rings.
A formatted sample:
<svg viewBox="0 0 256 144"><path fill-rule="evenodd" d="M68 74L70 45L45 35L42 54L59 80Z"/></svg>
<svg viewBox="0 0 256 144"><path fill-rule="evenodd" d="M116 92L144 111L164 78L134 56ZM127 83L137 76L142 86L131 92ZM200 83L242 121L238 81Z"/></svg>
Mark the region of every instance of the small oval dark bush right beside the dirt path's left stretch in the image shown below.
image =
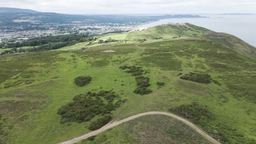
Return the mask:
<svg viewBox="0 0 256 144"><path fill-rule="evenodd" d="M96 119L96 121L92 122L88 129L89 130L97 130L109 123L112 120L112 116L106 115L101 118Z"/></svg>

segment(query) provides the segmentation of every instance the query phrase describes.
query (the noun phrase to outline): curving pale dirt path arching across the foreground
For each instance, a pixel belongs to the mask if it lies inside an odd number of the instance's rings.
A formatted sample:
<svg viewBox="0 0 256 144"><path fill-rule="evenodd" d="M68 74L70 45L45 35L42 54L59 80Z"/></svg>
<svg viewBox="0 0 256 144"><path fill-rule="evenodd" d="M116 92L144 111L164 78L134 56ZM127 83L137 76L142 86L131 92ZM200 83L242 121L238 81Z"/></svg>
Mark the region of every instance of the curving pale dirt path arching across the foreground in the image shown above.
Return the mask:
<svg viewBox="0 0 256 144"><path fill-rule="evenodd" d="M122 124L124 122L127 122L127 121L130 121L132 119L135 119L135 118L138 118L138 117L142 117L142 116L146 116L146 115L166 115L166 116L170 116L170 117L173 117L175 119L177 119L178 121L181 121L187 125L189 125L189 127L193 128L195 131L197 131L197 133L201 134L203 137L205 137L205 139L211 141L212 143L214 144L220 144L219 141L213 139L210 135L206 134L205 131L201 130L200 128L198 128L195 124L189 122L187 119L184 119L180 116L177 116L177 115L174 115L172 113L167 113L167 112L160 112L160 111L151 111L151 112L145 112L145 113L139 113L138 115L134 115L134 116L131 116L131 117L128 117L128 118L125 118L125 119L122 119L120 121L114 121L114 122L110 122L106 125L104 125L104 127L98 129L98 130L95 130L95 131L91 131L90 133L88 134L85 134L83 136L80 136L80 137L77 137L77 138L74 138L72 140L68 140L68 141L65 141L65 142L61 142L60 144L72 144L72 143L75 143L75 142L78 142L78 141L81 141L81 140L85 140L87 139L88 137L90 136L94 136L94 135L97 135L97 134L100 134L102 133L103 131L105 130L108 130L110 128L113 128L119 124Z"/></svg>

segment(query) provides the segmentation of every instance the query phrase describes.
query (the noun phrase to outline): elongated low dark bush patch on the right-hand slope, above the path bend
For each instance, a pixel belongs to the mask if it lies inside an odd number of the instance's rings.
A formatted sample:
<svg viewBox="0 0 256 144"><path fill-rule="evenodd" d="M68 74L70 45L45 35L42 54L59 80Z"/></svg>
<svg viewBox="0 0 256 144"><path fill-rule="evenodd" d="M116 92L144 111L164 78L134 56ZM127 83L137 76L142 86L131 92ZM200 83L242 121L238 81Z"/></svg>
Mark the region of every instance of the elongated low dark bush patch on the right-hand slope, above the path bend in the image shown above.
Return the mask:
<svg viewBox="0 0 256 144"><path fill-rule="evenodd" d="M179 77L183 80L189 80L189 81L194 81L194 82L198 82L198 83L211 83L212 79L211 76L208 74L203 74L203 73L189 73L186 75L183 75L181 77Z"/></svg>

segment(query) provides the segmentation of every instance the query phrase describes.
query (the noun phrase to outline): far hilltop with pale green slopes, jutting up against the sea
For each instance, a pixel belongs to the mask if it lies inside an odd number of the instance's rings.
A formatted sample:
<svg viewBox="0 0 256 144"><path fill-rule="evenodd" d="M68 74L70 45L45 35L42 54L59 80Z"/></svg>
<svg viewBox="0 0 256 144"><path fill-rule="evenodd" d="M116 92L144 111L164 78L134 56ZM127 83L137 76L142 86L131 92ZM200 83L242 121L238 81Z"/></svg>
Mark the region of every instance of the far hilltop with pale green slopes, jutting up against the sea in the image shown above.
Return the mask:
<svg viewBox="0 0 256 144"><path fill-rule="evenodd" d="M210 29L198 27L190 23L170 23L168 25L160 25L142 31L129 32L125 35L117 34L109 35L108 37L129 41L146 39L149 43L159 40L208 39L213 42L223 44L241 55L256 59L256 48L245 43L245 41L235 37L234 35L213 32ZM107 37L105 37L105 39L107 39Z"/></svg>

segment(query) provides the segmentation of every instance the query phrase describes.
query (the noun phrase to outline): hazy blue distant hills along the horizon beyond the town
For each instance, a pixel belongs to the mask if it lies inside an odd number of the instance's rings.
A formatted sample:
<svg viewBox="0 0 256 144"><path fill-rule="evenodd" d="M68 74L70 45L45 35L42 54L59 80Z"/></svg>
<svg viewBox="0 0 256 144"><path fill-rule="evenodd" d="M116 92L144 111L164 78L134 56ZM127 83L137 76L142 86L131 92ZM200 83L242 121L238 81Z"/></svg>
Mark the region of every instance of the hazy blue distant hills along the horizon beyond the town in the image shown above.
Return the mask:
<svg viewBox="0 0 256 144"><path fill-rule="evenodd" d="M171 18L198 18L199 15L68 15L57 13L42 13L29 9L0 8L0 25L23 25L24 23L73 23L79 21L85 24L95 23L133 23L139 24Z"/></svg>

